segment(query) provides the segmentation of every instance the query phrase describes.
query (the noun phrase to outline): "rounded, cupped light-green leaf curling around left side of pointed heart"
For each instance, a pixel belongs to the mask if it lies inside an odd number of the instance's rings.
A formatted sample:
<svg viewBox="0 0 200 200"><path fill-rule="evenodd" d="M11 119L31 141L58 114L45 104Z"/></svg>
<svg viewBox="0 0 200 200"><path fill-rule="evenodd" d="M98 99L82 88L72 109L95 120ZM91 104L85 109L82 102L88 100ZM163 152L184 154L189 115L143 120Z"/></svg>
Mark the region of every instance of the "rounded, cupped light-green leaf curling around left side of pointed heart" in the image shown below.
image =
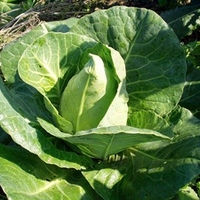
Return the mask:
<svg viewBox="0 0 200 200"><path fill-rule="evenodd" d="M48 33L26 48L19 61L19 74L45 98L46 108L62 131L71 133L72 124L58 112L66 82L76 73L82 51L96 42L76 34Z"/></svg>

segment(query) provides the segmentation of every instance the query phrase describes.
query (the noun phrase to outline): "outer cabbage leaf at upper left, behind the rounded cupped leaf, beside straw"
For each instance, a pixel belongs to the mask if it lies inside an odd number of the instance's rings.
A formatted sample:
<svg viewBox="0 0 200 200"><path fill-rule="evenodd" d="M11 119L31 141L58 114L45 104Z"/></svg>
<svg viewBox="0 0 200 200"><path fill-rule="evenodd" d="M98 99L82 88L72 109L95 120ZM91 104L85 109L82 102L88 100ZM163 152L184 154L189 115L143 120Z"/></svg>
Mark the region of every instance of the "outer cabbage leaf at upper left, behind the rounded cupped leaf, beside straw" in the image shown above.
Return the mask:
<svg viewBox="0 0 200 200"><path fill-rule="evenodd" d="M7 44L0 53L0 62L2 63L1 70L6 81L8 83L16 83L18 81L21 82L17 71L18 62L25 49L29 47L34 40L51 31L67 32L70 27L76 23L76 21L77 19L72 18L59 22L44 22L18 40Z"/></svg>

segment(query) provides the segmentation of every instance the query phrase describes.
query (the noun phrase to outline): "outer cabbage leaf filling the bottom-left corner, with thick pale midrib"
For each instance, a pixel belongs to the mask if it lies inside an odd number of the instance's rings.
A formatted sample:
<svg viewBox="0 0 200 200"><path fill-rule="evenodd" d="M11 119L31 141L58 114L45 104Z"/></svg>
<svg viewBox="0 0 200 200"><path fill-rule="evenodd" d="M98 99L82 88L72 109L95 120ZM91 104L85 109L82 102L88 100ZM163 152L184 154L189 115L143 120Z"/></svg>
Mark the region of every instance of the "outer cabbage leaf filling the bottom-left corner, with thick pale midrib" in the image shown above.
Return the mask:
<svg viewBox="0 0 200 200"><path fill-rule="evenodd" d="M0 144L0 152L0 185L8 199L101 199L79 171L48 165L17 147Z"/></svg>

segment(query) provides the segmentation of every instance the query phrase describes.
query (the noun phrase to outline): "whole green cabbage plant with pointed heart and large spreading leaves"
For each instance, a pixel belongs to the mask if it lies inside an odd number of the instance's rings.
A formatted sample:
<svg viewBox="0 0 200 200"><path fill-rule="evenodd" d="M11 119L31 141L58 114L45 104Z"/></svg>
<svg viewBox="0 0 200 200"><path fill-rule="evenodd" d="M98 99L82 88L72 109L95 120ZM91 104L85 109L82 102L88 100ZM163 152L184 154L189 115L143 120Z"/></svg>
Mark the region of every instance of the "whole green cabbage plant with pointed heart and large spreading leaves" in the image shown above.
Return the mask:
<svg viewBox="0 0 200 200"><path fill-rule="evenodd" d="M184 50L155 12L121 6L43 23L0 56L0 185L9 199L192 191L200 122L179 105Z"/></svg>

